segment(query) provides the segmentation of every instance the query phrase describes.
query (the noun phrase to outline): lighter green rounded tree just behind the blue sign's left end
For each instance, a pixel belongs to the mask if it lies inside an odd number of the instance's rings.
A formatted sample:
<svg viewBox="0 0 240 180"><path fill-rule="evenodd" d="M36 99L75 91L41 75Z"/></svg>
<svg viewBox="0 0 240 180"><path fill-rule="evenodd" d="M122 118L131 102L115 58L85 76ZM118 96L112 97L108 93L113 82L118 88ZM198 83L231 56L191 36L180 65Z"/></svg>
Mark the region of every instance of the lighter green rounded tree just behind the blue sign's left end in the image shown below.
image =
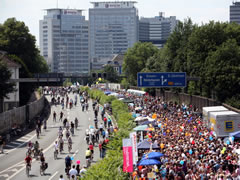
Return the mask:
<svg viewBox="0 0 240 180"><path fill-rule="evenodd" d="M123 60L123 73L131 85L137 84L137 73L145 68L147 59L157 52L157 47L152 43L140 42L127 50Z"/></svg>

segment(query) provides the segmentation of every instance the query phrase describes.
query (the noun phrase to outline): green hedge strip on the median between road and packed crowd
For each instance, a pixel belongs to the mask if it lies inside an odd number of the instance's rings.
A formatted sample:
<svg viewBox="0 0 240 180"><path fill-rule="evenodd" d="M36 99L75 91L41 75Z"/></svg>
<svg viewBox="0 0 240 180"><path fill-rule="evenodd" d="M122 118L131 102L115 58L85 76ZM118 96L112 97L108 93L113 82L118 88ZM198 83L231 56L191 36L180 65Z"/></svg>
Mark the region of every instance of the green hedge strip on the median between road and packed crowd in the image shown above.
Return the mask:
<svg viewBox="0 0 240 180"><path fill-rule="evenodd" d="M118 124L118 131L111 136L107 145L107 153L104 159L93 164L86 172L82 179L104 179L104 180L125 180L129 179L129 174L124 173L123 169L123 153L122 139L129 138L129 133L136 126L128 107L122 101L117 100L114 96L106 96L100 90L90 90L82 88L90 94L91 98L99 99L100 104L106 102L111 103L113 116Z"/></svg>

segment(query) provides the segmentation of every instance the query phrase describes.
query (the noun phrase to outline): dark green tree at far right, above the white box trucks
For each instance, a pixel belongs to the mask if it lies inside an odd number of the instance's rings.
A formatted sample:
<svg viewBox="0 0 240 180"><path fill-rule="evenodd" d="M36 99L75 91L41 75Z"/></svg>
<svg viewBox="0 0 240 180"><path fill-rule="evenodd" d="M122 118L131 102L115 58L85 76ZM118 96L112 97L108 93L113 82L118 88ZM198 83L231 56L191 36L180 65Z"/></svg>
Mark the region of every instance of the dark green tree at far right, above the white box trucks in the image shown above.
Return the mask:
<svg viewBox="0 0 240 180"><path fill-rule="evenodd" d="M240 94L240 46L229 39L206 58L206 84L216 99L224 102Z"/></svg>

